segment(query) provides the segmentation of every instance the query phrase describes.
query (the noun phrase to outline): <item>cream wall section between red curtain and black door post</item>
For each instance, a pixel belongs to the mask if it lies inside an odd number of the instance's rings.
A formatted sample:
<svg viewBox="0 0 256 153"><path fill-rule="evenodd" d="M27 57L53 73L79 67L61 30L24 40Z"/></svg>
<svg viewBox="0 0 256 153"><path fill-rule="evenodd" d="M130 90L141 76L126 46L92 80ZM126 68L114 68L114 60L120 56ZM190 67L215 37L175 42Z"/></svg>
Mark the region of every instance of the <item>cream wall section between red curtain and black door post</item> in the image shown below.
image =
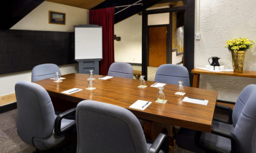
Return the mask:
<svg viewBox="0 0 256 153"><path fill-rule="evenodd" d="M141 63L142 15L135 14L114 25L115 62Z"/></svg>

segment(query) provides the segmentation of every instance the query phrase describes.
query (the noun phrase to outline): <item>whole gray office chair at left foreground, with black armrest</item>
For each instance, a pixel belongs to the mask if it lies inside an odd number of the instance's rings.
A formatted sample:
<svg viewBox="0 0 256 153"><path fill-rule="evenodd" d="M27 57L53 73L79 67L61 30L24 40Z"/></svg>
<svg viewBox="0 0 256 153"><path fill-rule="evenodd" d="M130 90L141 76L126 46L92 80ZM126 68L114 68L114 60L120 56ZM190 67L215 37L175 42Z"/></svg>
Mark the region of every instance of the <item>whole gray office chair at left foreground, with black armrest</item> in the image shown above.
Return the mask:
<svg viewBox="0 0 256 153"><path fill-rule="evenodd" d="M75 130L75 120L62 119L75 112L70 109L56 116L47 91L31 82L15 85L17 99L17 133L25 143L38 150L60 144L67 133Z"/></svg>

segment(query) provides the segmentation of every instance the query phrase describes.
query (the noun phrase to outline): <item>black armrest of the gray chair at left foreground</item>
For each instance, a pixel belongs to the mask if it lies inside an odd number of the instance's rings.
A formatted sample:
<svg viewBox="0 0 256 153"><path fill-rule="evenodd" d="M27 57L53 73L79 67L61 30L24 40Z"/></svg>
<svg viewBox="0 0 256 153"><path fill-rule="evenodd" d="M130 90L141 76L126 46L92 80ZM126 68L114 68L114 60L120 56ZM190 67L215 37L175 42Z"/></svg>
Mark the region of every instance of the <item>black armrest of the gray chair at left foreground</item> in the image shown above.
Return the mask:
<svg viewBox="0 0 256 153"><path fill-rule="evenodd" d="M63 113L60 113L60 114L56 117L56 119L55 119L55 125L54 125L54 133L55 133L55 135L60 136L60 135L66 134L66 133L67 133L68 131L70 131L70 130L73 130L73 128L74 128L75 125L76 125L76 121L73 121L73 122L69 123L67 126L63 127L62 129L60 129L60 127L61 127L61 120L62 120L64 117L66 117L66 116L68 116L68 115L74 113L75 111L76 111L76 108L72 108L72 109L67 110L67 111L65 111L65 112L63 112Z"/></svg>

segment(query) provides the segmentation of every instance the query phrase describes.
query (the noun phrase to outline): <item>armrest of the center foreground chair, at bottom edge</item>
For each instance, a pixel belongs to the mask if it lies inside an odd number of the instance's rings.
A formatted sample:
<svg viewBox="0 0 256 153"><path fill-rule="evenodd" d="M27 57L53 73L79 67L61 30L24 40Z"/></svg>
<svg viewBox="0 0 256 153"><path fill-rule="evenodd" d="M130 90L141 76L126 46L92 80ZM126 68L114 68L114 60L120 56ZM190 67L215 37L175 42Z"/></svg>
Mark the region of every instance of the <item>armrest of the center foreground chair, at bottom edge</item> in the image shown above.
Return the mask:
<svg viewBox="0 0 256 153"><path fill-rule="evenodd" d="M154 153L158 153L161 148L166 153L169 150L167 135L166 134L162 134L162 133L160 133L157 136L157 138L155 139L155 141L151 145L150 149L148 149L148 152L149 153L153 153L153 152Z"/></svg>

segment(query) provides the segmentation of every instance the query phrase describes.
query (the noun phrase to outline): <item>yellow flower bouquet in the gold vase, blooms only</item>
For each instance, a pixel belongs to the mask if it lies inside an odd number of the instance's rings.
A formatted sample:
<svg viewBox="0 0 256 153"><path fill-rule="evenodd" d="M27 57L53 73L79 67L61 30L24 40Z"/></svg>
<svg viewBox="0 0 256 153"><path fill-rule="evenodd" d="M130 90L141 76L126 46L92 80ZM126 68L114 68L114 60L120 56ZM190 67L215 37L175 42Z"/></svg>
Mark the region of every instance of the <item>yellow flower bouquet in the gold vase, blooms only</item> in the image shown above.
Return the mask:
<svg viewBox="0 0 256 153"><path fill-rule="evenodd" d="M247 50L254 46L254 40L248 40L248 38L233 38L226 41L225 48L228 48L232 52L238 52L240 50Z"/></svg>

